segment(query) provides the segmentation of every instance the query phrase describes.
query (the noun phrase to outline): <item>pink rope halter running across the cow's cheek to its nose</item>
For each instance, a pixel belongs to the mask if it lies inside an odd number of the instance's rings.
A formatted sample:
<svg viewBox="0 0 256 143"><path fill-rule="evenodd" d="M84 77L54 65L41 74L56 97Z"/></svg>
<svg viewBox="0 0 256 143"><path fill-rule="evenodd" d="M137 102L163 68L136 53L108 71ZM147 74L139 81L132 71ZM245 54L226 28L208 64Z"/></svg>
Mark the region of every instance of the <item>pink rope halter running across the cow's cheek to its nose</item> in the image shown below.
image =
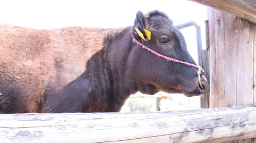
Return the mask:
<svg viewBox="0 0 256 143"><path fill-rule="evenodd" d="M141 46L142 48L145 48L147 49L147 51L159 56L159 57L162 57L162 58L165 58L167 61L172 61L172 62L175 62L175 63L181 63L181 64L185 64L185 65L188 65L188 66L193 66L194 68L197 68L198 71L197 71L197 74L198 74L198 82L199 82L199 85L201 86L202 89L204 89L203 85L202 85L202 82L201 82L201 78L200 78L200 74L201 73L204 73L204 70L201 66L199 65L195 65L195 64L190 64L188 62L183 62L183 61L179 61L179 60L175 60L174 58L171 58L171 57L167 57L167 56L164 56L162 54L159 54L157 52L155 52L153 49L150 49L149 47L143 45L142 43L140 43L138 40L136 40L134 38L134 36L132 36L132 41L133 43L136 43L137 45Z"/></svg>

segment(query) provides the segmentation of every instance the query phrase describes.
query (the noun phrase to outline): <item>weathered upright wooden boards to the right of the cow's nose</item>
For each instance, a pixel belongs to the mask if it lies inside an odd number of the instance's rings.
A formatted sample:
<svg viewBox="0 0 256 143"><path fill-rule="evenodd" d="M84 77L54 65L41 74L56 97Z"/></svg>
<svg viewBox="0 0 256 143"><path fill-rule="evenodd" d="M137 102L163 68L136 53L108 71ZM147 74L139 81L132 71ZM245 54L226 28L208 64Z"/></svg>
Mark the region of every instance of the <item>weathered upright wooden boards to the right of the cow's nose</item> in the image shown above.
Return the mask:
<svg viewBox="0 0 256 143"><path fill-rule="evenodd" d="M256 24L213 8L208 14L210 108L256 105Z"/></svg>

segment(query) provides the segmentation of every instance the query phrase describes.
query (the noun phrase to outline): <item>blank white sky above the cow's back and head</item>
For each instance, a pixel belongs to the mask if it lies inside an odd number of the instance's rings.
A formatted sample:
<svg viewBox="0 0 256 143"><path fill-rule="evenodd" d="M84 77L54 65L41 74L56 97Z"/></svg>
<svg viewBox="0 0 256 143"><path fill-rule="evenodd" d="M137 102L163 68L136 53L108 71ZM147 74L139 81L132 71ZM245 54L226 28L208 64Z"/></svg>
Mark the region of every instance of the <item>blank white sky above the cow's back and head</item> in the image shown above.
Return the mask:
<svg viewBox="0 0 256 143"><path fill-rule="evenodd" d="M115 28L131 26L138 11L151 10L165 12L174 24L197 22L207 16L206 6L186 0L2 0L0 22L37 29L77 25Z"/></svg>

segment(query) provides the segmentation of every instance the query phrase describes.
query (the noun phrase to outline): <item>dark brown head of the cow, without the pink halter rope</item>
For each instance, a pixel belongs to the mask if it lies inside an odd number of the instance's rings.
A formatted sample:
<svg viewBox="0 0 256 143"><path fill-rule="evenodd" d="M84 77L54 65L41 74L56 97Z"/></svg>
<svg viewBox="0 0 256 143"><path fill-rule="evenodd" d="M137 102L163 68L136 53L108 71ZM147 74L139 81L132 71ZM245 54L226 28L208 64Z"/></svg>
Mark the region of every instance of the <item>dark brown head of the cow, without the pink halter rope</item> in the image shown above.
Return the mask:
<svg viewBox="0 0 256 143"><path fill-rule="evenodd" d="M138 28L146 40L143 40L135 30ZM151 32L151 39L146 38L143 29ZM137 13L132 35L143 45L159 54L176 60L196 64L187 51L185 39L181 32L173 26L172 21L162 12L153 11L146 15ZM195 49L196 50L196 49ZM186 96L204 94L209 85L201 78L204 89L200 88L197 70L192 66L167 61L158 57L139 45L135 46L131 65L137 88L145 94L155 94L158 91L182 93ZM202 75L201 75L202 77Z"/></svg>

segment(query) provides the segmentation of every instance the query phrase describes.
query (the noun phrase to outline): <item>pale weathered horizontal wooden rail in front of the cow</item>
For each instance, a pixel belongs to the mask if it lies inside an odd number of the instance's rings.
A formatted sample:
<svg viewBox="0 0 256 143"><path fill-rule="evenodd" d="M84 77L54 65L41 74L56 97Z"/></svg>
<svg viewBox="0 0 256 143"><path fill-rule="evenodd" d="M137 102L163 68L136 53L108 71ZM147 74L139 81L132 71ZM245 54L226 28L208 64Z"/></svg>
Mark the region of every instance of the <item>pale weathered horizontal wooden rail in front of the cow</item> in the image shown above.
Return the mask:
<svg viewBox="0 0 256 143"><path fill-rule="evenodd" d="M225 142L256 137L256 107L0 114L1 142Z"/></svg>

